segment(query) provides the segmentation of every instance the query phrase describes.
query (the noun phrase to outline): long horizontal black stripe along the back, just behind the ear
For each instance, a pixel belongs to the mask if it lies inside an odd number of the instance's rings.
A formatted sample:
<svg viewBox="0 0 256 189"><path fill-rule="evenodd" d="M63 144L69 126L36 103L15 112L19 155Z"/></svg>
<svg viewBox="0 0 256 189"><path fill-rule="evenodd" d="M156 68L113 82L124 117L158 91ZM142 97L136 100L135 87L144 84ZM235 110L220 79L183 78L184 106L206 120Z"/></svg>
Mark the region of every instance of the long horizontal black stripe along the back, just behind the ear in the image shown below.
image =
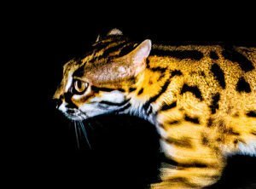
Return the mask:
<svg viewBox="0 0 256 189"><path fill-rule="evenodd" d="M161 50L153 49L150 53L151 55L158 56L171 56L179 60L190 59L190 60L201 60L204 54L198 50Z"/></svg>

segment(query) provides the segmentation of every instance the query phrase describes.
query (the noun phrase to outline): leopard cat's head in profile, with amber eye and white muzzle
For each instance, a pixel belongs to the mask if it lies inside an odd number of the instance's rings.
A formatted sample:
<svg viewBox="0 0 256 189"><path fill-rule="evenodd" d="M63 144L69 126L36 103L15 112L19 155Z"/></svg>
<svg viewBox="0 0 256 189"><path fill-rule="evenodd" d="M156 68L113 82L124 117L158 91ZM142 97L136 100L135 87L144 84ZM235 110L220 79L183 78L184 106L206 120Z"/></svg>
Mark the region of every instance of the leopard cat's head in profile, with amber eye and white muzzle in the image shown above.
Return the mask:
<svg viewBox="0 0 256 189"><path fill-rule="evenodd" d="M125 111L150 49L150 40L132 43L117 29L98 37L85 58L70 60L63 67L54 95L57 108L73 120Z"/></svg>

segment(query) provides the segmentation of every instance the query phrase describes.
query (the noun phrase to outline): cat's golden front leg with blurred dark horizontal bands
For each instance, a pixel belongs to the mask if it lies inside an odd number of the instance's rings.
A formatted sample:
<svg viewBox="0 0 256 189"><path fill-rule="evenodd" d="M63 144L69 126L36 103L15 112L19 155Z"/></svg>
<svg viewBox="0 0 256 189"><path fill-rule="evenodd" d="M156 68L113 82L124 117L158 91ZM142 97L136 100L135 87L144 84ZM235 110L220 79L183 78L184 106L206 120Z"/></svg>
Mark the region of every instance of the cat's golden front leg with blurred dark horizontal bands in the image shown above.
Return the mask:
<svg viewBox="0 0 256 189"><path fill-rule="evenodd" d="M200 130L194 129L189 135L181 127L160 140L167 161L160 170L162 181L151 188L203 188L220 178L226 162L224 156L211 137L202 137Z"/></svg>

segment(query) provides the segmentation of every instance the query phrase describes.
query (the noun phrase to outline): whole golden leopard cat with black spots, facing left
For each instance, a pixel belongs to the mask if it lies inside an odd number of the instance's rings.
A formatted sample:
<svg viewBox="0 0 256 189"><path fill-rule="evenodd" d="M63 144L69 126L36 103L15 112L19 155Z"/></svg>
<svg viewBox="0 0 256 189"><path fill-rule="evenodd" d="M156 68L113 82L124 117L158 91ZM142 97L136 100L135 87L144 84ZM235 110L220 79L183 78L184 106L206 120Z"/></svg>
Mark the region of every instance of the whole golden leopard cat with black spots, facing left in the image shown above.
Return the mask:
<svg viewBox="0 0 256 189"><path fill-rule="evenodd" d="M256 48L136 43L113 29L67 62L55 91L73 120L143 117L166 161L152 188L202 188L233 154L256 155Z"/></svg>

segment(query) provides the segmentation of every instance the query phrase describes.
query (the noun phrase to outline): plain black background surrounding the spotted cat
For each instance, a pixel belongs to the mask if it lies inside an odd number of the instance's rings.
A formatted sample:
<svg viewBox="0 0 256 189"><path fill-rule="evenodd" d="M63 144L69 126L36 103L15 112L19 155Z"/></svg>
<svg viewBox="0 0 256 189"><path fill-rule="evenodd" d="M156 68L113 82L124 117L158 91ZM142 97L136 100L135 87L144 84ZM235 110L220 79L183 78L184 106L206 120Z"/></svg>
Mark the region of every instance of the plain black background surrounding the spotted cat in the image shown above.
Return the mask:
<svg viewBox="0 0 256 189"><path fill-rule="evenodd" d="M92 149L83 138L78 148L73 123L51 102L61 81L61 66L84 54L97 34L113 27L138 41L255 46L253 11L249 5L238 4L235 9L220 3L204 8L187 3L143 8L124 3L111 9L97 4L81 4L79 9L59 5L38 4L9 22L10 38L15 39L12 52L19 55L14 66L21 73L15 77L19 94L14 97L20 113L9 119L15 124L10 124L12 132L6 140L11 155L6 175L15 178L9 184L143 188L157 180L160 156L154 126L135 117L97 117L90 120L93 129L84 123ZM215 188L253 188L255 168L255 158L229 158Z"/></svg>

